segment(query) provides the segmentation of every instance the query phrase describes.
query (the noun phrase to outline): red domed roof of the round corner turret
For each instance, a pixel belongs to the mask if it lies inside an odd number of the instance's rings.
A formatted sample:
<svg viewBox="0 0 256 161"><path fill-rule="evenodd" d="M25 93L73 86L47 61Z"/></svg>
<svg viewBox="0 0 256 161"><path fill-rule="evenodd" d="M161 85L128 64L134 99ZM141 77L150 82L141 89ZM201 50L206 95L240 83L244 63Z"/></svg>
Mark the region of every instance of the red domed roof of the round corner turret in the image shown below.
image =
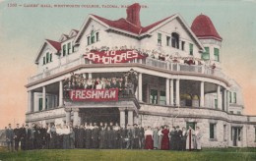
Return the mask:
<svg viewBox="0 0 256 161"><path fill-rule="evenodd" d="M217 40L223 40L218 31L216 30L211 19L206 15L199 15L193 21L191 29L198 38L214 38Z"/></svg>

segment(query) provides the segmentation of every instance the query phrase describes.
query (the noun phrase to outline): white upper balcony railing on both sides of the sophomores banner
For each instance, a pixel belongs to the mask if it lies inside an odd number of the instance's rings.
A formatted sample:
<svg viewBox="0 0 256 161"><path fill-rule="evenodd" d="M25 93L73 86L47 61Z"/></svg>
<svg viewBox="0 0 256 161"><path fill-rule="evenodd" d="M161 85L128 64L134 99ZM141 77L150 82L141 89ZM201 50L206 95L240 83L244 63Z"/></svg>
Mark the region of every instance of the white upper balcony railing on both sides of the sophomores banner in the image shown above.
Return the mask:
<svg viewBox="0 0 256 161"><path fill-rule="evenodd" d="M218 78L222 78L226 81L229 81L228 77L224 75L224 73L220 69L213 69L211 67L205 66L205 65L187 65L187 64L180 64L180 63L171 63L167 61L160 61L153 58L146 58L146 59L136 59L133 61L128 62L130 64L132 63L138 63L138 64L144 64L149 67L156 67L158 69L168 70L168 71L174 71L174 72L184 72L184 73L194 73L194 74L203 74L207 76L215 76ZM72 61L69 61L66 64L63 64L59 67L44 71L41 74L35 75L31 78L29 78L29 83L41 80L44 78L47 78L49 76L53 76L57 73L60 73L62 71L71 69L73 67L83 65L83 64L90 64L89 61L86 61L84 58L77 58Z"/></svg>

